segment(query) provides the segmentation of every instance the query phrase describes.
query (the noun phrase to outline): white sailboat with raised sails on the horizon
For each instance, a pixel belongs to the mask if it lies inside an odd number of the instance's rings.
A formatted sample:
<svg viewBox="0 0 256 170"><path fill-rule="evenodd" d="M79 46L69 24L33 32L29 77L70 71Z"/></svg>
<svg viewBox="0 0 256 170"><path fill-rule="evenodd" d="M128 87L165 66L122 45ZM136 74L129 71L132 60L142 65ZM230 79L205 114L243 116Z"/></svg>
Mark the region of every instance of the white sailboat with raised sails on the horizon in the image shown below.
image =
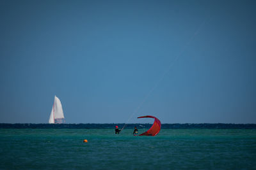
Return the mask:
<svg viewBox="0 0 256 170"><path fill-rule="evenodd" d="M64 123L64 113L62 110L60 99L54 96L54 103L52 106L52 112L49 118L49 124L61 124Z"/></svg>

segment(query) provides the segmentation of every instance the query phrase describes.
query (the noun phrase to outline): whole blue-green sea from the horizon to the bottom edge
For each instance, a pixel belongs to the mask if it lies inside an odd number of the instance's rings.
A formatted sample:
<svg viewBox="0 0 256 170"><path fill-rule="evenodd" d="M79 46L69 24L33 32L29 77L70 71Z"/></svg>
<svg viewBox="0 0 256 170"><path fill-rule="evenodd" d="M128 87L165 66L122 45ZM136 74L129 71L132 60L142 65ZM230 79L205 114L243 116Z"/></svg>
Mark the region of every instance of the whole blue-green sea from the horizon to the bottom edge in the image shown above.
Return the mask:
<svg viewBox="0 0 256 170"><path fill-rule="evenodd" d="M256 124L115 125L0 124L0 169L256 169Z"/></svg>

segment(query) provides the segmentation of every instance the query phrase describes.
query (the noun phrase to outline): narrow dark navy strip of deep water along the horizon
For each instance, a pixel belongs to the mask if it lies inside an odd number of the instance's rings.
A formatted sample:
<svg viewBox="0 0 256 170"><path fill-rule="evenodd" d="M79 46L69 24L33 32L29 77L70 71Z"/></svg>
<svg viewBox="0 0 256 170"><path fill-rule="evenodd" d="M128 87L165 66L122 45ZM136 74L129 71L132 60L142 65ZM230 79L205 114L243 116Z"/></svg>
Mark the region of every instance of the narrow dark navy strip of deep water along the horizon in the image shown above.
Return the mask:
<svg viewBox="0 0 256 170"><path fill-rule="evenodd" d="M113 129L124 124L0 124L0 129ZM125 129L150 128L152 124L125 124ZM162 124L161 129L256 129L256 124Z"/></svg>

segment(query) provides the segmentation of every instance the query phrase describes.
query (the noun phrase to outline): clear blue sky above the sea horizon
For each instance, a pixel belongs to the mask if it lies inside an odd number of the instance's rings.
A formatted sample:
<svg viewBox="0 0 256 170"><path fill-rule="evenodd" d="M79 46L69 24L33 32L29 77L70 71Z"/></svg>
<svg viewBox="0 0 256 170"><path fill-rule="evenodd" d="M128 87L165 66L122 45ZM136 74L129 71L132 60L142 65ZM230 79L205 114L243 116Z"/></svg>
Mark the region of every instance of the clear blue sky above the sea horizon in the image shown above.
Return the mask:
<svg viewBox="0 0 256 170"><path fill-rule="evenodd" d="M0 123L256 123L256 1L0 1Z"/></svg>

